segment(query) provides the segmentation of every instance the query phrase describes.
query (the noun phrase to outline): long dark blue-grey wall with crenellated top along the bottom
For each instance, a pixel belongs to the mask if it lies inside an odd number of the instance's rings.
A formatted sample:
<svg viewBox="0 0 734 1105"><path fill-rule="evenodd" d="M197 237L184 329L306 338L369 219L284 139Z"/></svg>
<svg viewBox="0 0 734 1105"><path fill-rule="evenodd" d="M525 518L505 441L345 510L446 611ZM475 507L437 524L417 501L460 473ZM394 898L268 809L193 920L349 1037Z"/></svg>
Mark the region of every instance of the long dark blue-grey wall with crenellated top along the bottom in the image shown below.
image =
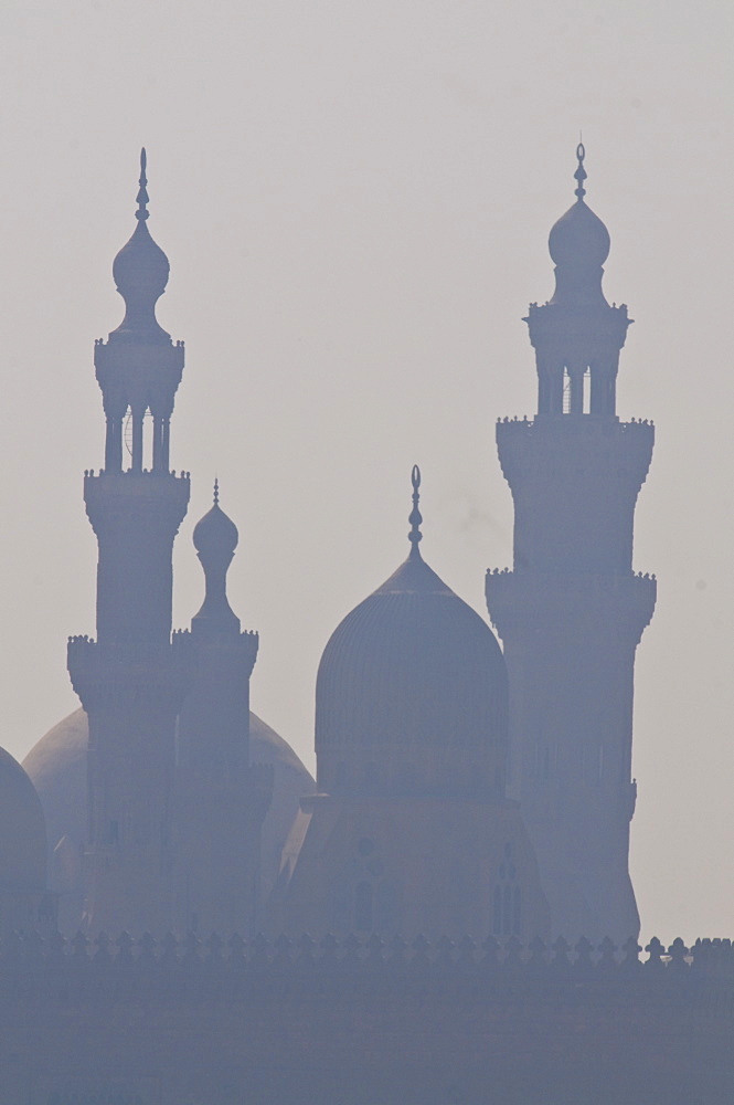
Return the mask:
<svg viewBox="0 0 734 1105"><path fill-rule="evenodd" d="M3 1105L731 1105L734 956L234 939L0 960Z"/></svg>

